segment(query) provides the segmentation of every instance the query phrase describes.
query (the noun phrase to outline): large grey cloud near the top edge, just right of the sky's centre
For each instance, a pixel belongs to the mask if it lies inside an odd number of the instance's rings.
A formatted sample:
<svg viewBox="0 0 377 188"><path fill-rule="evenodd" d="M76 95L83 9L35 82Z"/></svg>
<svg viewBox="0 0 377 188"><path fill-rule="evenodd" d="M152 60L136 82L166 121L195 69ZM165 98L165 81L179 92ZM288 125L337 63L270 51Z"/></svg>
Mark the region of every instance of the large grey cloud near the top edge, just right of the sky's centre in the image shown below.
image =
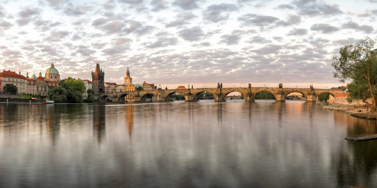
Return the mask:
<svg viewBox="0 0 377 188"><path fill-rule="evenodd" d="M219 5L210 5L203 12L203 19L215 23L222 20L227 20L229 15L225 14L225 12L231 11L238 11L238 7L234 4L227 3L221 3Z"/></svg>

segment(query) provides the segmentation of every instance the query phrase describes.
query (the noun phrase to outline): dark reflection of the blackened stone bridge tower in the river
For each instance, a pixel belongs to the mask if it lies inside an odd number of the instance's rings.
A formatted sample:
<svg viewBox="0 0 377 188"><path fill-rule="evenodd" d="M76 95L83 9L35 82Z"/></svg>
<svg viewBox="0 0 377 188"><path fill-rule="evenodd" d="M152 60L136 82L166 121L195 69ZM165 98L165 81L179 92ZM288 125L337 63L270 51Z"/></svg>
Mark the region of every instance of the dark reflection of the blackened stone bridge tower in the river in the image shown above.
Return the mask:
<svg viewBox="0 0 377 188"><path fill-rule="evenodd" d="M96 104L93 109L93 136L101 143L106 136L105 106Z"/></svg>

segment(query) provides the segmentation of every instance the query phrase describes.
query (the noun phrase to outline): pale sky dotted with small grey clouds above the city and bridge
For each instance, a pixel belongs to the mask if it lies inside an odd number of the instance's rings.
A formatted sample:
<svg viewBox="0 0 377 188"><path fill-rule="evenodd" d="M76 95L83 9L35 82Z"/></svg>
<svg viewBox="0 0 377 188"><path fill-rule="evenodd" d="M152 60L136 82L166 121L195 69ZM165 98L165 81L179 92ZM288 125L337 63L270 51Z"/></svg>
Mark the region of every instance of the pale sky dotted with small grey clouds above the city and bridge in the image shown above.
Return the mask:
<svg viewBox="0 0 377 188"><path fill-rule="evenodd" d="M0 69L170 89L343 85L340 47L376 38L377 0L0 0ZM38 76L38 75L37 75Z"/></svg>

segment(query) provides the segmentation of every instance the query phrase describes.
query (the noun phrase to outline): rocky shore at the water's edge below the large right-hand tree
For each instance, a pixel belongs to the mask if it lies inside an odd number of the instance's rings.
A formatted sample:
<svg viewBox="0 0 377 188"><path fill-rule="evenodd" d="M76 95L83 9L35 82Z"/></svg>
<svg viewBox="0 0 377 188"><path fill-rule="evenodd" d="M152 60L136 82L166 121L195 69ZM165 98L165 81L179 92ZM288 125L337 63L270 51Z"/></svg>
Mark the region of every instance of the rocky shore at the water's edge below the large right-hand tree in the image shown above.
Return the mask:
<svg viewBox="0 0 377 188"><path fill-rule="evenodd" d="M326 106L323 106L322 108L346 112L346 113L351 114L353 117L377 120L377 113L366 111L364 106L345 105L345 104L340 104L340 103L330 103Z"/></svg>

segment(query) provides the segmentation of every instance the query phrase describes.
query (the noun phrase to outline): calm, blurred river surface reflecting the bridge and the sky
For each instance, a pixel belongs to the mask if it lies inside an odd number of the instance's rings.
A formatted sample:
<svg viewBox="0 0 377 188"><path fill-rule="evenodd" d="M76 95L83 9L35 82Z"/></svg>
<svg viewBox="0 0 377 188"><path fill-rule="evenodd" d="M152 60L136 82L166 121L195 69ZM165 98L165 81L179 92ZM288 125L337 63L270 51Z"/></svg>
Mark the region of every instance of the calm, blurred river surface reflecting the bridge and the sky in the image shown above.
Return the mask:
<svg viewBox="0 0 377 188"><path fill-rule="evenodd" d="M0 104L0 187L377 187L376 121L289 101Z"/></svg>

